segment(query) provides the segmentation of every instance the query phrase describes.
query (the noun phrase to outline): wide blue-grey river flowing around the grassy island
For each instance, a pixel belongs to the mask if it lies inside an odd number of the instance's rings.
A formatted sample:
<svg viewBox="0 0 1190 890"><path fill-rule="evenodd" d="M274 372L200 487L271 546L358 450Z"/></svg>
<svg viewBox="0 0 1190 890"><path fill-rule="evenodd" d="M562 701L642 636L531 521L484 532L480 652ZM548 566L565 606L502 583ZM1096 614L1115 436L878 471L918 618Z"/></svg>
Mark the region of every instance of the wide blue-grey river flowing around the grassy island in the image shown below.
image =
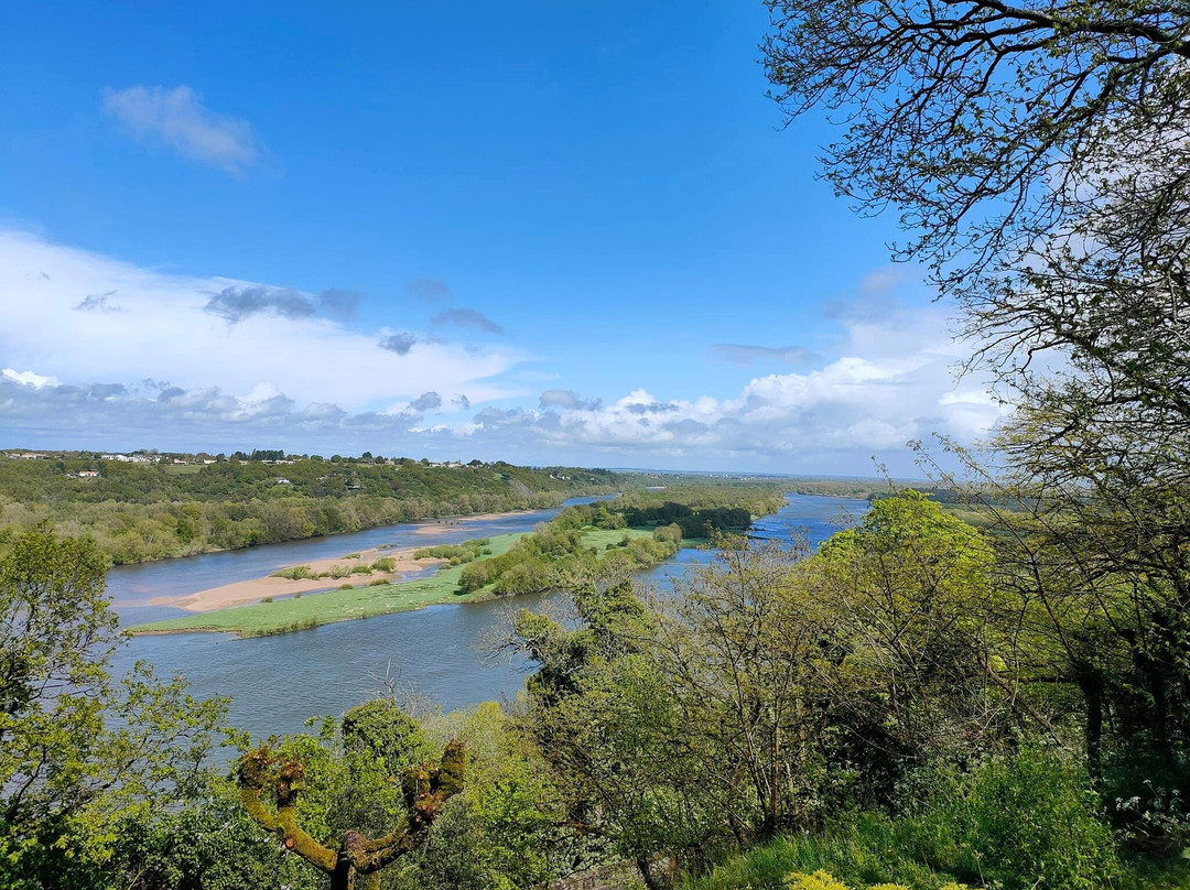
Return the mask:
<svg viewBox="0 0 1190 890"><path fill-rule="evenodd" d="M597 499L568 503L591 500ZM865 508L864 501L788 495L785 506L753 522L750 534L781 541L801 534L818 545ZM269 575L287 565L340 557L382 544L427 546L525 532L557 513L557 509L530 510L497 519L384 526L250 550L115 566L108 572L107 589L121 623L132 625L184 614L150 606L155 597L193 594ZM640 577L646 583L669 584L689 564L712 558L708 551L683 550L675 559ZM549 595L432 606L243 640L215 633L137 637L117 654L114 668L124 672L133 662L144 659L156 665L162 676L181 673L199 697L230 696L230 722L255 737L301 732L313 715L338 716L377 692L386 673L413 684L419 695L450 710L516 695L525 682L525 665L493 659L478 644L501 623L511 607L532 609L545 596Z"/></svg>

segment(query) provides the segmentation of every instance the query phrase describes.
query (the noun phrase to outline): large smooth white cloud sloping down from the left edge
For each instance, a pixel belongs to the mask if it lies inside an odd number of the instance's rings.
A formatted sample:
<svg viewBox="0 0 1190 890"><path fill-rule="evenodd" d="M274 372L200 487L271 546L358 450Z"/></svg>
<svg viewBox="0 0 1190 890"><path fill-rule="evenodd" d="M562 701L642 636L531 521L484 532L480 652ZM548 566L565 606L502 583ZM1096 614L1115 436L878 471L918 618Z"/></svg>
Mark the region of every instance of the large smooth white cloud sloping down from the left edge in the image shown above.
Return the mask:
<svg viewBox="0 0 1190 890"><path fill-rule="evenodd" d="M120 312L74 309L80 294L111 292ZM2 230L0 305L5 364L77 386L151 378L184 391L245 394L267 382L301 406L353 413L431 390L507 397L493 377L524 358L511 347L430 339L405 355L376 349L392 332L331 318L321 295L167 275Z"/></svg>

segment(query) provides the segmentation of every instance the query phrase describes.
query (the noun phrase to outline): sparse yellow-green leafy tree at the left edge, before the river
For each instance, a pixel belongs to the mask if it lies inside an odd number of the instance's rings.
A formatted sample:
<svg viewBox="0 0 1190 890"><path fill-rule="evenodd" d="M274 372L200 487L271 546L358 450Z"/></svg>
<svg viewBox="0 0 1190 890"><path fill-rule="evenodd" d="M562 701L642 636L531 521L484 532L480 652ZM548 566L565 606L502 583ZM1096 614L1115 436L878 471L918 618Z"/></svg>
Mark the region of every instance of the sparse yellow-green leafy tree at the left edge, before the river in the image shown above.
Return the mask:
<svg viewBox="0 0 1190 890"><path fill-rule="evenodd" d="M184 798L223 717L144 665L113 682L124 635L94 544L35 528L0 559L0 884L83 885L115 826Z"/></svg>

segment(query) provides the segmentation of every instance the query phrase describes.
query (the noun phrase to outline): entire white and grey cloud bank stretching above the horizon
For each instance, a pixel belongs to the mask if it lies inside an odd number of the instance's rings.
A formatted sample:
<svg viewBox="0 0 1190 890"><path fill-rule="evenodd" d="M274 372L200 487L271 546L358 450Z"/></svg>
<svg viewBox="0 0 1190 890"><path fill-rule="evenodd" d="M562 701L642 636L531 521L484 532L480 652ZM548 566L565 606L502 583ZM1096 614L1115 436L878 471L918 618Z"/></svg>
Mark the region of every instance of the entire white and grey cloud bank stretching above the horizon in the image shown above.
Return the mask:
<svg viewBox="0 0 1190 890"><path fill-rule="evenodd" d="M580 394L564 388L564 366L562 386L528 391L518 369L534 353L490 337L445 340L400 319L361 327L355 292L170 275L0 231L0 446L821 472L903 456L908 440L934 432L987 434L1007 408L978 381L954 383L965 351L941 311L864 312L875 290L869 282L850 311L837 307L844 334L829 355L706 344L718 353L708 361L816 365L753 377L731 397L659 399L647 378L627 394ZM502 333L477 309L446 312L431 327Z"/></svg>

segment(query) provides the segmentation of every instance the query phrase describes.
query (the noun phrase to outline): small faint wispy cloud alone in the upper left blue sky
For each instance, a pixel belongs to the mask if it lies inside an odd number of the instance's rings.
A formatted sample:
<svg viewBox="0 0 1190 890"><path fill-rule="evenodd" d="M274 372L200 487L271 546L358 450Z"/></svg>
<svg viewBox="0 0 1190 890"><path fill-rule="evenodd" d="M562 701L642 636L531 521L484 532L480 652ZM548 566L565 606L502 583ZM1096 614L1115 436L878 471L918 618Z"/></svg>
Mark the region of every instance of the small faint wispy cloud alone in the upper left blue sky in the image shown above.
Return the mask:
<svg viewBox="0 0 1190 890"><path fill-rule="evenodd" d="M186 86L104 90L104 109L133 137L169 146L233 176L256 163L257 139L244 120L215 114Z"/></svg>

